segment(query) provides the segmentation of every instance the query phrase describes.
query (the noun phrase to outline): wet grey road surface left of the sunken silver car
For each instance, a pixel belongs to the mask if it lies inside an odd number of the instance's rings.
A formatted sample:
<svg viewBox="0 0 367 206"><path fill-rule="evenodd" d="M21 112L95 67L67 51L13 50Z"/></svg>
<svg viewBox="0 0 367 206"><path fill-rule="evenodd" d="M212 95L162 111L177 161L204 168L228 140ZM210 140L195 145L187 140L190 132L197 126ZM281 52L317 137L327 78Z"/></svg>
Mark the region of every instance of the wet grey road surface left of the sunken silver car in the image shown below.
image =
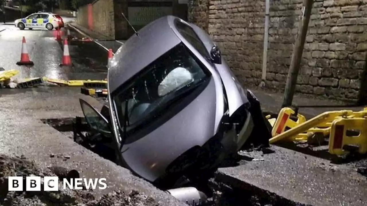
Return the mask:
<svg viewBox="0 0 367 206"><path fill-rule="evenodd" d="M71 20L72 21L72 20ZM55 40L55 31L19 30L14 25L1 25L0 67L19 69L18 77L50 78L104 78L107 73L107 53L92 42L70 43L73 67L59 67L62 46ZM65 35L65 30L63 32ZM72 35L79 35L72 33ZM21 55L22 37L33 67L17 66ZM129 194L136 190L159 201L160 205L185 205L166 192L142 180L125 168L99 157L75 143L58 130L44 124L40 119L82 116L79 98L100 109L102 104L90 96L80 94L80 88L39 87L29 89L0 90L0 154L24 155L41 168L50 165L76 169L82 177L106 178L106 190L94 190L96 197L121 190ZM55 157L53 157L55 155ZM69 159L58 156L70 156Z"/></svg>

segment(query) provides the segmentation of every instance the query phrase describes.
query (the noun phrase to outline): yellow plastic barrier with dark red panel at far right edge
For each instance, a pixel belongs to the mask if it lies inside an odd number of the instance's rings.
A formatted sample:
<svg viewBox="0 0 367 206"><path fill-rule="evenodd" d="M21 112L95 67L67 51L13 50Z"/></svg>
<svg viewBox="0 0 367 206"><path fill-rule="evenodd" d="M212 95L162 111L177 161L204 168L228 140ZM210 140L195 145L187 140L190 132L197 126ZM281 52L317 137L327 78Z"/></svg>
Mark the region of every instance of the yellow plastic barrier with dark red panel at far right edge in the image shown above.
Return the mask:
<svg viewBox="0 0 367 206"><path fill-rule="evenodd" d="M329 153L344 155L349 153L349 151L343 149L345 145L356 145L359 146L358 152L365 154L367 152L366 125L367 119L362 117L335 119L331 125ZM347 136L348 130L359 130L359 135Z"/></svg>

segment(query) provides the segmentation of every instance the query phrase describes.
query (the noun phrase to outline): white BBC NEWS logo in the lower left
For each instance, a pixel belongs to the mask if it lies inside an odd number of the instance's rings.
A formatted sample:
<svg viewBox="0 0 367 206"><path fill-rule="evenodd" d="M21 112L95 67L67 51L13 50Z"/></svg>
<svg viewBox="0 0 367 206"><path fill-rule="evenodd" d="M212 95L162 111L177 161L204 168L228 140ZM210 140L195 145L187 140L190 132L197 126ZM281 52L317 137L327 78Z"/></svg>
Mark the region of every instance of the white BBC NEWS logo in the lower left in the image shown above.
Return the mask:
<svg viewBox="0 0 367 206"><path fill-rule="evenodd" d="M43 191L59 191L59 177L42 177L43 179ZM69 188L71 190L87 190L99 189L104 190L107 188L106 178L75 178L75 179L63 179L62 188L65 190ZM25 184L25 191L41 191L42 180L38 176L26 177L23 181L23 177L8 177L8 190L9 191L23 191ZM84 186L84 187L83 187Z"/></svg>

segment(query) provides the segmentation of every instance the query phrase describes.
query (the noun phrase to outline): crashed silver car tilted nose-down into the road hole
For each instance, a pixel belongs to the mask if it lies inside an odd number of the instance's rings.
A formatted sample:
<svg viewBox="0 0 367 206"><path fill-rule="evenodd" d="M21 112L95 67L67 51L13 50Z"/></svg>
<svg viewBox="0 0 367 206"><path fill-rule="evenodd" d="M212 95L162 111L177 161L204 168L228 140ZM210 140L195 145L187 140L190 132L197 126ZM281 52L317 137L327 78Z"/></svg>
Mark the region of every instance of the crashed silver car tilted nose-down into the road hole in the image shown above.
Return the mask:
<svg viewBox="0 0 367 206"><path fill-rule="evenodd" d="M266 130L257 99L208 34L174 16L146 25L116 52L108 102L101 115L81 100L88 124L111 138L121 166L166 188L207 176Z"/></svg>

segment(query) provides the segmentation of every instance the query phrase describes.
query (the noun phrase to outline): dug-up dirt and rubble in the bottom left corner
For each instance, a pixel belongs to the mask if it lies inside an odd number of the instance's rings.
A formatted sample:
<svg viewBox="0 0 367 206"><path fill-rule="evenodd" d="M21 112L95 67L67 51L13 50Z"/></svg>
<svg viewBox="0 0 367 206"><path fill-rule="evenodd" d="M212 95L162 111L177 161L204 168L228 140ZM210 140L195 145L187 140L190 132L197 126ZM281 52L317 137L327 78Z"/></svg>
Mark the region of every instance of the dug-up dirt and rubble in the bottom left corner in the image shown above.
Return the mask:
<svg viewBox="0 0 367 206"><path fill-rule="evenodd" d="M0 155L0 205L3 206L159 206L155 199L131 191L113 191L96 199L91 190L8 191L8 176L57 176L52 167L41 169L25 157ZM43 185L41 185L43 188ZM42 189L41 189L42 190Z"/></svg>

